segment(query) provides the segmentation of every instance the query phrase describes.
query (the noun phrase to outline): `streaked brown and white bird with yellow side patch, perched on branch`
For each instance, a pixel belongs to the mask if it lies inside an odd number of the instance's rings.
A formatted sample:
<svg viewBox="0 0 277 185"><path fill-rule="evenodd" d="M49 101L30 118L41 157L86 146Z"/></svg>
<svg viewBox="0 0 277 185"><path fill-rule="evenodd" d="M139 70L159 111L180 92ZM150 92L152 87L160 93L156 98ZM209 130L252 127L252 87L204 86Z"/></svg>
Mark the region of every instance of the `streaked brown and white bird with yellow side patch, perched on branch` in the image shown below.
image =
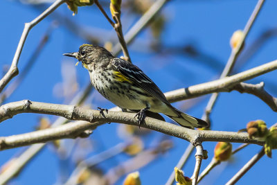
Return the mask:
<svg viewBox="0 0 277 185"><path fill-rule="evenodd" d="M78 52L64 53L82 62L89 71L91 84L112 103L123 109L140 110L139 125L145 111L166 114L184 127L206 127L208 123L185 114L168 102L166 96L148 76L126 60L116 58L105 48L82 44Z"/></svg>

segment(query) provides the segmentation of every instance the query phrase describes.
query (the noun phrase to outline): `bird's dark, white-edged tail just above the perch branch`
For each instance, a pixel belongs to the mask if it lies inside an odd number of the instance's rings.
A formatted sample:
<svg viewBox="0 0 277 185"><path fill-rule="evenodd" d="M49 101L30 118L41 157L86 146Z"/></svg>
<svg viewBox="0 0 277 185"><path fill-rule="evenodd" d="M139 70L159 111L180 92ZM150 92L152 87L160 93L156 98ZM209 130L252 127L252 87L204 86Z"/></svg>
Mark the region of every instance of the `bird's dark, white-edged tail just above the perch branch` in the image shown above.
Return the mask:
<svg viewBox="0 0 277 185"><path fill-rule="evenodd" d="M179 111L175 107L172 107L175 109L175 112L177 113L177 116L170 116L166 115L169 118L171 118L173 121L176 121L179 123L179 125L183 127L189 127L194 129L195 127L200 128L200 127L208 127L208 123L206 121L203 121L202 119L195 118L193 116L190 116L184 112Z"/></svg>

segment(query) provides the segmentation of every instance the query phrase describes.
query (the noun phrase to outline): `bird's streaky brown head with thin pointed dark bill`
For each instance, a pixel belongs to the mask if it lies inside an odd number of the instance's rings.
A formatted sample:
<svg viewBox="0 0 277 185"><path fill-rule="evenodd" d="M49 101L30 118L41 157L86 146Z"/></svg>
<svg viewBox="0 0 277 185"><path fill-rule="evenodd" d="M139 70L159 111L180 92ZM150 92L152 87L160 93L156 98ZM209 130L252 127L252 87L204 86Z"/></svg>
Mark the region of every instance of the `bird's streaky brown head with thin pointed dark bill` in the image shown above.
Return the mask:
<svg viewBox="0 0 277 185"><path fill-rule="evenodd" d="M76 58L78 61L82 62L82 66L89 71L101 67L103 64L107 64L111 58L114 58L107 49L91 44L82 44L78 52L64 53L63 55ZM76 63L76 65L77 64L78 63Z"/></svg>

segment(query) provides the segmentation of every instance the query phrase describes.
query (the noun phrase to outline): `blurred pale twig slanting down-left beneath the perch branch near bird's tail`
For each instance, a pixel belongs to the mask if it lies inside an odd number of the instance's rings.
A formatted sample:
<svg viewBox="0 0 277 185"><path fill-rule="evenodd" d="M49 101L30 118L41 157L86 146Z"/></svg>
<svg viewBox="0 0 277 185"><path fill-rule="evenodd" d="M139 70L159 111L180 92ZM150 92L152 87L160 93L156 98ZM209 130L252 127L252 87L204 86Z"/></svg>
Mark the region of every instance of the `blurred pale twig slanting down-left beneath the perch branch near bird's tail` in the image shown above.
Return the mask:
<svg viewBox="0 0 277 185"><path fill-rule="evenodd" d="M188 157L190 157L191 152L193 152L193 149L195 146L193 146L191 143L189 143L188 147L186 148L186 151L182 155L181 159L179 159L179 162L177 164L177 168L182 169L184 168L186 161L188 161ZM173 170L170 177L168 178L168 181L166 182L166 185L172 185L175 181L175 171Z"/></svg>

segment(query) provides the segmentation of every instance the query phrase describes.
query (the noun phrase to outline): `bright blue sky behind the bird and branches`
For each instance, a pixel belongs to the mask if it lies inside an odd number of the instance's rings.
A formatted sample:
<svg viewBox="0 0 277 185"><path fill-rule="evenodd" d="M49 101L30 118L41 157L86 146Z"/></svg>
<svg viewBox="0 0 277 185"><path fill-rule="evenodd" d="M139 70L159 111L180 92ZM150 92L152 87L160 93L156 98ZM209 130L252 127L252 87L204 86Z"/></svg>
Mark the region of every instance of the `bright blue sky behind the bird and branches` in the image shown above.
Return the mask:
<svg viewBox="0 0 277 185"><path fill-rule="evenodd" d="M124 0L123 0L124 2ZM1 67L10 65L13 55L17 48L19 38L24 28L24 23L31 21L48 4L44 6L30 6L19 1L2 1L0 11L0 21L2 27L0 29L0 51L1 51ZM150 51L148 43L152 39L150 29L147 28L139 34L138 38L129 46L129 53L134 64L139 66L145 73L157 83L162 91L170 91L182 87L188 87L208 80L216 79L220 74L222 67L229 58L231 49L229 39L233 32L238 29L243 29L253 8L256 6L256 1L169 1L162 10L163 16L166 17L166 27L161 34L161 46L163 49L168 49L172 46L194 46L199 53L205 55L202 58L191 58L189 55L181 53L170 53L159 56L157 53ZM276 7L277 1L266 1L260 15L256 19L249 36L247 37L244 51L249 49L249 46L260 37L266 30L276 29L277 19ZM137 15L126 15L123 9L123 28L126 32L129 26L139 19ZM94 37L100 40L112 39L116 41L116 34L111 28L105 17L100 14L100 11L95 5L91 7L79 8L78 15L72 16L72 12L62 5L57 8L60 15L70 19L76 24L83 26ZM35 51L35 47L46 32L48 27L56 19L55 15L47 17L35 28L30 30L26 39L26 44L19 59L19 73L26 65L30 55ZM89 74L87 70L80 67L73 67L75 60L64 58L62 53L78 51L78 47L87 43L86 40L76 36L66 28L66 23L60 22L49 37L46 46L42 53L35 61L35 64L30 69L28 76L21 83L7 102L17 100L30 99L42 101L46 103L69 103L69 100L64 100L55 94L59 92L59 84L64 78L74 76L76 73L78 89L83 89L89 82ZM257 67L266 62L276 60L277 39L276 33L267 39L262 46L251 56L249 60L242 66L235 67L235 71L244 71ZM121 54L120 54L121 55ZM242 53L244 55L244 53ZM217 62L215 62L217 61ZM240 61L240 58L239 58ZM67 64L67 65L66 65ZM69 65L69 66L68 66ZM69 67L69 68L66 68ZM62 73L63 69L69 69ZM75 71L74 71L75 70ZM74 73L73 73L74 71ZM72 75L71 75L72 74ZM270 94L277 96L276 88L277 72L273 71L264 76L260 76L251 83L265 82L265 89ZM64 77L66 76L66 77ZM56 89L55 89L56 88ZM201 117L204 107L208 101L208 96L205 96L197 106L186 110L188 114ZM183 109L191 101L182 101L175 103L176 107ZM114 107L107 100L102 98L100 94L94 92L87 100L87 104L92 104L93 108ZM20 114L14 118L4 121L0 125L0 136L9 136L12 134L20 134L34 130L37 125L39 115L37 114ZM51 121L55 121L56 117L48 116ZM240 94L238 92L222 93L211 114L212 129L236 132L252 120L262 119L267 125L276 123L277 114L273 112L265 103L255 96L249 94ZM93 146L93 152L87 156L97 154L103 150L107 150L111 146L122 142L123 139L118 136L116 130L118 124L102 125L91 134L89 139ZM152 133L145 138L146 146L150 147L152 142L157 141L163 136L160 133ZM174 148L165 155L159 157L149 166L139 170L141 173L141 181L143 184L164 184L168 179L171 171L179 161L179 157L183 154L187 141L172 138ZM67 142L67 141L66 141ZM66 142L64 145L66 145ZM71 141L68 141L69 145ZM202 170L211 161L213 157L213 148L215 143L204 143L204 149L208 150L209 158L203 162ZM236 148L238 144L234 144ZM4 150L0 153L0 164L4 164L13 155L16 155L24 148L15 148L12 150ZM235 155L230 163L222 163L221 166L215 168L205 179L202 184L224 184L258 151L260 146L249 146ZM129 159L127 155L120 155L116 159L106 161L101 164L103 170L107 171L112 166L116 166L118 161ZM64 161L63 161L64 162ZM11 184L54 184L60 176L60 168L62 162L57 159L56 152L53 146L48 145L42 152L39 153L30 163L24 168L17 178L12 180ZM70 164L70 163L69 163ZM190 157L186 164L185 174L190 176L193 173L195 160ZM258 164L253 166L249 172L242 177L238 184L261 184L274 181L274 165L276 164L276 152L273 152L273 159L263 157ZM69 169L73 168L70 164ZM224 170L222 171L222 169ZM265 178L266 177L266 178ZM122 184L123 179L118 181Z"/></svg>

